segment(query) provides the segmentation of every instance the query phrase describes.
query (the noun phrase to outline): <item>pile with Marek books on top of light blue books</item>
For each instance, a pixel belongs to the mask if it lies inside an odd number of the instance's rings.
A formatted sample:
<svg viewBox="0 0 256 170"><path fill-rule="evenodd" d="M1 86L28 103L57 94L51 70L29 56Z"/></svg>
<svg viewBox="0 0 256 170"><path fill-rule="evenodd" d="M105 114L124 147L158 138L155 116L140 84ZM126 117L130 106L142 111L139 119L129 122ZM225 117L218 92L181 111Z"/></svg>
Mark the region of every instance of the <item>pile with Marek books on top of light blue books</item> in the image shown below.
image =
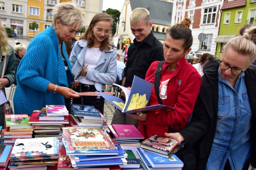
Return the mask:
<svg viewBox="0 0 256 170"><path fill-rule="evenodd" d="M182 169L183 162L174 154L183 147L175 139L153 135L140 143L137 153L147 169Z"/></svg>

